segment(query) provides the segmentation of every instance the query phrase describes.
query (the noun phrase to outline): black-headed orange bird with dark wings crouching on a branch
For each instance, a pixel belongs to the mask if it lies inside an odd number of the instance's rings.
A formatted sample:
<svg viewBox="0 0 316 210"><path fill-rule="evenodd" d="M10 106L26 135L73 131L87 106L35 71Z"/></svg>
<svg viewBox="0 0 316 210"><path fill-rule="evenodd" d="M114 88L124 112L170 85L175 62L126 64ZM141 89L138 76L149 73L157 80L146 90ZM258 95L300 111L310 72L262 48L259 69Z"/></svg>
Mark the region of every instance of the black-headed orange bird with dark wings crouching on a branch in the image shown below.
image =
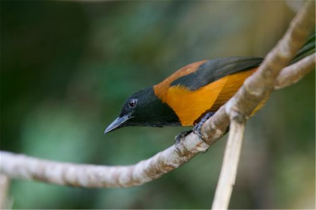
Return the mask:
<svg viewBox="0 0 316 210"><path fill-rule="evenodd" d="M312 52L315 52L315 34L291 62ZM224 57L197 61L181 67L160 83L129 96L119 117L104 133L125 126L194 126L193 130L199 131L201 125L234 96L263 60L260 57L247 56ZM252 114L265 101L266 99Z"/></svg>

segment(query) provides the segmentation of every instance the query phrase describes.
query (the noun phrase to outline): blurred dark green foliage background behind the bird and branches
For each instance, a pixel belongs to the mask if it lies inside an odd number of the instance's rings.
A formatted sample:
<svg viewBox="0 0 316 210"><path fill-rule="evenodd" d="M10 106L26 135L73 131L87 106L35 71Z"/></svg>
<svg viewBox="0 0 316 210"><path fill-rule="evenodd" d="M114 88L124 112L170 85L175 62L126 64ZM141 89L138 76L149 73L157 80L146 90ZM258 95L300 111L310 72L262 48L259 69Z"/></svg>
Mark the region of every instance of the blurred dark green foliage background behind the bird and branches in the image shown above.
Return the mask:
<svg viewBox="0 0 316 210"><path fill-rule="evenodd" d="M147 159L187 128L103 135L127 96L194 61L264 56L294 15L283 1L1 1L1 149L101 165ZM129 189L13 180L13 208L207 209L225 143ZM230 208L315 208L315 71L249 120Z"/></svg>

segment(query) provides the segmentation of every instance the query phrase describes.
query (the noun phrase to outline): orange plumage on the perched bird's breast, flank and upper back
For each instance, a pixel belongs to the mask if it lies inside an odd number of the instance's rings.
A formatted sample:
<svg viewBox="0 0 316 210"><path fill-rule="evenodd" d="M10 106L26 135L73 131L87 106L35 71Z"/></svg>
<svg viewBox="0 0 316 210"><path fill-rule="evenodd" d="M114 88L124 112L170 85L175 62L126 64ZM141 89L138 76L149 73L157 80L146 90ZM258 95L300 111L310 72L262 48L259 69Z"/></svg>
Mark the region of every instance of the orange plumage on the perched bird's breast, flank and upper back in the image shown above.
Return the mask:
<svg viewBox="0 0 316 210"><path fill-rule="evenodd" d="M197 90L189 90L181 85L170 87L175 79L196 71L204 62L199 61L185 66L154 86L155 95L173 109L182 126L192 126L206 112L217 111L237 92L244 80L257 69L228 75Z"/></svg>

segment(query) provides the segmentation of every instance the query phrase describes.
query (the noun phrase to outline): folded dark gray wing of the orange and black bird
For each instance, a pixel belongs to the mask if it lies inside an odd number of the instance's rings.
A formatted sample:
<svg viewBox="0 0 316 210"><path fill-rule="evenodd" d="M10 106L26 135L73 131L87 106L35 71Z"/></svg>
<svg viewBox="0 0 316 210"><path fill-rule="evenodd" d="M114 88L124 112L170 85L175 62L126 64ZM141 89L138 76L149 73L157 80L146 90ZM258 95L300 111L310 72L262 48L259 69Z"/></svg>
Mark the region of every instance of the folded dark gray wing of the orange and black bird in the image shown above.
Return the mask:
<svg viewBox="0 0 316 210"><path fill-rule="evenodd" d="M228 57L217 58L201 64L197 71L174 80L170 86L181 85L190 90L197 90L229 74L258 67L263 58Z"/></svg>

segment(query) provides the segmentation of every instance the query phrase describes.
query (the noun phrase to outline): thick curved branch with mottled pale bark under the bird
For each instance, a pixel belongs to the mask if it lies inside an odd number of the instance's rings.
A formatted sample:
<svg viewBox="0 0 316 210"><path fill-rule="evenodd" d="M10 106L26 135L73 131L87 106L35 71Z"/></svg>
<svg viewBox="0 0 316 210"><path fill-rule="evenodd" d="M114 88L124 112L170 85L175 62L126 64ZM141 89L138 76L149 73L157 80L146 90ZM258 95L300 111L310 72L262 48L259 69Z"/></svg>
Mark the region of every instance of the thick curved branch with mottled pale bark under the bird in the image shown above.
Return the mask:
<svg viewBox="0 0 316 210"><path fill-rule="evenodd" d="M228 103L204 123L201 131L205 141L199 140L197 135L191 133L180 142L179 151L171 146L153 157L131 166L60 163L1 151L0 171L11 178L33 179L52 184L87 188L131 187L161 177L183 165L201 151L206 150L222 137L230 123L231 113L239 113L247 117L274 88L283 88L301 79L301 77L295 76L304 75L304 73L297 73L301 70L296 69L294 66L296 64L287 67L288 70L283 68L304 44L311 29L315 26L314 8L314 1L306 3L292 21L285 36L276 48L267 55L258 71L245 81L241 89ZM306 62L303 63L302 61L299 63L306 67L307 71L305 72L310 71L315 66L315 59L311 56ZM306 63L310 65L307 67ZM281 69L284 73L276 79ZM284 79L285 77L290 79ZM287 81L285 82L285 80ZM288 80L292 82L288 82Z"/></svg>

